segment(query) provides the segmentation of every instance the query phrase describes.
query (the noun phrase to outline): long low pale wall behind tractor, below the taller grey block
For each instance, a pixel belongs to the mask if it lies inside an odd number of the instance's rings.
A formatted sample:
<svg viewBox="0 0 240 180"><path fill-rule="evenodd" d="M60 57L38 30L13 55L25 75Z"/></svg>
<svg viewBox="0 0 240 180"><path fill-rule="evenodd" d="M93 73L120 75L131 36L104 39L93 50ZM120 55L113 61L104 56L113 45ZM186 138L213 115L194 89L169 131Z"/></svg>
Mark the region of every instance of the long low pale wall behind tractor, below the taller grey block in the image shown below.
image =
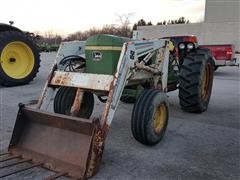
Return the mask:
<svg viewBox="0 0 240 180"><path fill-rule="evenodd" d="M199 44L235 44L240 49L240 26L238 22L193 23L180 25L139 26L142 38L196 35Z"/></svg>

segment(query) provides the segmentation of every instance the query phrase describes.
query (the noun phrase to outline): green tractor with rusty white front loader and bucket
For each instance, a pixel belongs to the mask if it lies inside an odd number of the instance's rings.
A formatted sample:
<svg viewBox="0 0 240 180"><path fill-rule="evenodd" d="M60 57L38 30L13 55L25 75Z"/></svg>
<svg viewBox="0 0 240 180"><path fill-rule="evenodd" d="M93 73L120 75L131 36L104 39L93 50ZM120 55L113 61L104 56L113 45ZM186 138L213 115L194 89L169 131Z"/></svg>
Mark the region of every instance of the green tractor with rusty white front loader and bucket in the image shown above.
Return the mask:
<svg viewBox="0 0 240 180"><path fill-rule="evenodd" d="M208 107L212 56L194 46L185 51L180 63L168 39L95 35L86 42L63 42L37 104L19 105L9 153L21 155L21 162L31 159L31 167L57 172L52 177L91 177L101 164L119 101L130 97L136 98L134 138L149 146L159 143L168 124L168 91L179 89L185 111L199 113ZM92 117L94 96L105 105Z"/></svg>

